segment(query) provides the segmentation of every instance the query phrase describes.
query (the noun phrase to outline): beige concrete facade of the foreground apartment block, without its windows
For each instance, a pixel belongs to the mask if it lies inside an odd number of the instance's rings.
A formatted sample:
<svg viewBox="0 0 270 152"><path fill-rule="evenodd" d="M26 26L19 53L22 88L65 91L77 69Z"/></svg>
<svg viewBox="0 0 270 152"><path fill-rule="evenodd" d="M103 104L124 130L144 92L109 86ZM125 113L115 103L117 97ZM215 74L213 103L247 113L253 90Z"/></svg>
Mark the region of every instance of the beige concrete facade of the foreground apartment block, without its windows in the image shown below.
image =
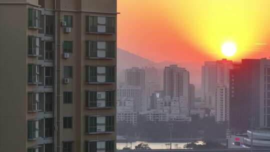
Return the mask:
<svg viewBox="0 0 270 152"><path fill-rule="evenodd" d="M39 27L29 26L29 8L40 10ZM66 142L72 151L86 151L87 141L113 141L116 150L116 14L116 0L0 0L0 151L64 151ZM69 32L62 24L65 15L72 16ZM86 16L113 17L114 32L86 32ZM29 37L39 37L33 44L39 45L39 54L29 55ZM68 58L63 57L64 41L72 41ZM113 41L114 57L86 57L86 41ZM53 57L47 59L49 53ZM29 64L38 77L31 76L34 82L29 82ZM68 83L63 82L64 66L72 66ZM86 82L86 66L112 66L114 80ZM85 91L114 91L114 105L86 107ZM63 102L63 92L72 92L72 103ZM38 98L35 110L29 110L29 93ZM86 116L114 116L114 131L85 132ZM72 117L71 128L63 128L63 117ZM46 127L49 119L51 128ZM29 121L35 125L30 139Z"/></svg>

